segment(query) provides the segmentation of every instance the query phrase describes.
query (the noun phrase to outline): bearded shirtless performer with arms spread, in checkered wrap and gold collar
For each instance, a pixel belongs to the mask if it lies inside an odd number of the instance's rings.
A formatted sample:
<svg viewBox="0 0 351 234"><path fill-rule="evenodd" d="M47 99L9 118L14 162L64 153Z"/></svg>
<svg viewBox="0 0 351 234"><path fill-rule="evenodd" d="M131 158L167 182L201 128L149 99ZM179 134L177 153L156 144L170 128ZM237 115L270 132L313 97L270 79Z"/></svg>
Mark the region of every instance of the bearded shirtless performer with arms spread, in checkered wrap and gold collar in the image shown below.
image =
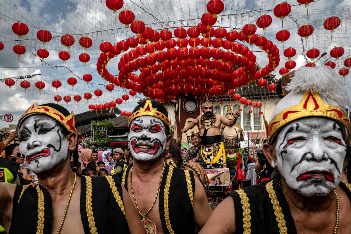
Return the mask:
<svg viewBox="0 0 351 234"><path fill-rule="evenodd" d="M181 129L181 132L186 132L199 124L201 156L207 167L225 167L225 151L220 126L221 123L230 127L234 126L240 116L240 112L236 110L231 120L226 119L223 115L213 114L213 105L208 100L207 95L202 103L202 111L204 114L199 115L186 128Z"/></svg>

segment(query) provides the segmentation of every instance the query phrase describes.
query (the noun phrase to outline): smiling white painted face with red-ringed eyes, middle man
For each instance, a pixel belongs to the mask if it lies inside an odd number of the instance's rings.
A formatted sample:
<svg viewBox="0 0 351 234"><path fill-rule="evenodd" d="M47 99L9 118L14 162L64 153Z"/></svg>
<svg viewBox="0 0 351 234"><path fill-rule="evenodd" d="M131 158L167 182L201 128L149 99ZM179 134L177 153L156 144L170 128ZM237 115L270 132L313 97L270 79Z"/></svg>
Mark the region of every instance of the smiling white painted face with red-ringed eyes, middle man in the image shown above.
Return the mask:
<svg viewBox="0 0 351 234"><path fill-rule="evenodd" d="M134 159L147 161L157 158L166 147L165 124L152 116L135 118L131 123L128 142Z"/></svg>

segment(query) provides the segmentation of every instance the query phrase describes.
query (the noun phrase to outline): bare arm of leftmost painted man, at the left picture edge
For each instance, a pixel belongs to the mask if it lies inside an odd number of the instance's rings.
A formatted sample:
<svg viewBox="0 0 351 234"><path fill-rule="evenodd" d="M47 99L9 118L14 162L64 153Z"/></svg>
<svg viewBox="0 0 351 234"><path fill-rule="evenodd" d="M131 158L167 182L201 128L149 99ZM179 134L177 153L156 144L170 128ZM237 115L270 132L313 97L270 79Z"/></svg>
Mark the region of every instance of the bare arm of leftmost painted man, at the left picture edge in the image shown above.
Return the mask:
<svg viewBox="0 0 351 234"><path fill-rule="evenodd" d="M9 233L12 220L12 202L16 185L0 183L0 225Z"/></svg>

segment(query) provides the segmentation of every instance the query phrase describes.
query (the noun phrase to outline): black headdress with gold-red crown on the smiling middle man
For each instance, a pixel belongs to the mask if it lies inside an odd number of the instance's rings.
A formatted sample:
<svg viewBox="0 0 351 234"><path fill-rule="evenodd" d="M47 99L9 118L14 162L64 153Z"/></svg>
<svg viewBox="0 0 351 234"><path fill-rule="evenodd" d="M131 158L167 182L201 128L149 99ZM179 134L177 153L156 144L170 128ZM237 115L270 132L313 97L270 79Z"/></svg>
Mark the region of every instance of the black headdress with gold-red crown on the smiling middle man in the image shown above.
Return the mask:
<svg viewBox="0 0 351 234"><path fill-rule="evenodd" d="M152 102L154 102L155 107L152 106ZM141 107L142 105L143 102L141 102L137 107L135 107L132 115L129 118L129 125L135 118L139 116L153 116L162 120L168 128L170 127L170 120L168 119L167 110L160 102L147 98L144 107ZM159 111L158 109L162 110Z"/></svg>

